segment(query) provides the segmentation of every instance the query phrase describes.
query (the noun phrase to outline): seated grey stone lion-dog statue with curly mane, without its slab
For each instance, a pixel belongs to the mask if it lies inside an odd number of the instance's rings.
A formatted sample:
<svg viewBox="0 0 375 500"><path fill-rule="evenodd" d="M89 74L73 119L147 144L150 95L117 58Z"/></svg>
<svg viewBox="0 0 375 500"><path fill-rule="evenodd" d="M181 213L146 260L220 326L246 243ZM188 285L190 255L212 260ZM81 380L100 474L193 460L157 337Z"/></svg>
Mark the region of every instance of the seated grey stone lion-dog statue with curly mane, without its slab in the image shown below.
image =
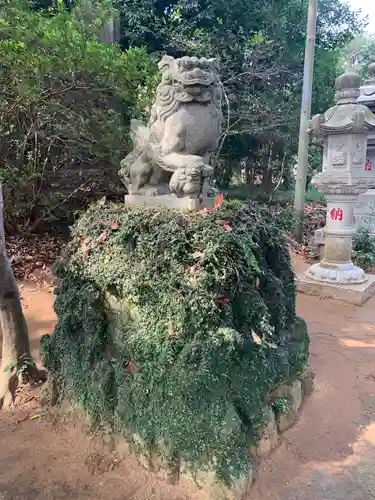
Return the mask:
<svg viewBox="0 0 375 500"><path fill-rule="evenodd" d="M165 56L148 126L132 120L133 151L121 162L129 194L205 198L221 133L222 85L214 59Z"/></svg>

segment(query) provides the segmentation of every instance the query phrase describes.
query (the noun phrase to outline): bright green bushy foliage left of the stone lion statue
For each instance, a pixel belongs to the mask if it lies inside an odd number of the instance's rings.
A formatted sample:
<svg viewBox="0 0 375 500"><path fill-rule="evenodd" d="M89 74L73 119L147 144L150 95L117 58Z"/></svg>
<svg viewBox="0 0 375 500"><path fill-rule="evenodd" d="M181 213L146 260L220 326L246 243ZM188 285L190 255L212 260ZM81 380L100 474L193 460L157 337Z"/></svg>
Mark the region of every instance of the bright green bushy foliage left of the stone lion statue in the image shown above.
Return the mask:
<svg viewBox="0 0 375 500"><path fill-rule="evenodd" d="M74 200L113 184L130 117L148 108L156 69L144 49L99 43L61 6L53 15L23 0L0 6L6 228L33 230L66 220Z"/></svg>

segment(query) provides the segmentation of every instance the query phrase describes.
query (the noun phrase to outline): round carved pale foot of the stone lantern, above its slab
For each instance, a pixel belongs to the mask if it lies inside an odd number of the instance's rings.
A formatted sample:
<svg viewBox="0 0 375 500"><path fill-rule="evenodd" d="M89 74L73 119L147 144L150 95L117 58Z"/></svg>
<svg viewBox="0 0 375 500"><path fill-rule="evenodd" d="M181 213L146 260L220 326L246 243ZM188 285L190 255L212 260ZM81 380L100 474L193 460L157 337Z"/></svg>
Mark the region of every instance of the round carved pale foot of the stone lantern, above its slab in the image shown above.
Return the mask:
<svg viewBox="0 0 375 500"><path fill-rule="evenodd" d="M328 263L327 263L328 264ZM314 281L332 283L333 285L359 285L368 280L363 269L352 262L324 265L314 264L306 271L306 277Z"/></svg>

